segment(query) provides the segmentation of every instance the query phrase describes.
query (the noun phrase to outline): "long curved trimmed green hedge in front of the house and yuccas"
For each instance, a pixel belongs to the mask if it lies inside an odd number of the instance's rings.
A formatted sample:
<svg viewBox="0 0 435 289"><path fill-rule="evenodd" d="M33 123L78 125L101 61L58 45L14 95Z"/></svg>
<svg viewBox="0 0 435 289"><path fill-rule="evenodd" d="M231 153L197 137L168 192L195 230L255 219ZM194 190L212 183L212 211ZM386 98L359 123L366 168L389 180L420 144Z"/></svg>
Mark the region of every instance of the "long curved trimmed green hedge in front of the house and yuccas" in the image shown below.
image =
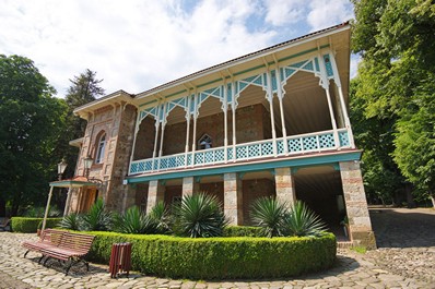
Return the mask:
<svg viewBox="0 0 435 289"><path fill-rule="evenodd" d="M90 232L90 258L108 264L113 243L132 243L132 267L146 275L190 278L297 276L332 266L337 240L320 238L177 238Z"/></svg>

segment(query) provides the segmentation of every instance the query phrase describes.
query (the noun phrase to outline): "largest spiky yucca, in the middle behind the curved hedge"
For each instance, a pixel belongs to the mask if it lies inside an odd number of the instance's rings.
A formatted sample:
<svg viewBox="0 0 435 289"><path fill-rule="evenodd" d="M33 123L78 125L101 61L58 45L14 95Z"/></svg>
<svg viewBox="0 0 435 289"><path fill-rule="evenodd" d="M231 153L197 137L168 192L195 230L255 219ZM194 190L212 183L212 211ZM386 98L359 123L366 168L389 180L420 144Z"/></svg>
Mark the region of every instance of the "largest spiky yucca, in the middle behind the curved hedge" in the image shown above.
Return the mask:
<svg viewBox="0 0 435 289"><path fill-rule="evenodd" d="M191 238L220 237L227 225L217 198L205 193L184 196L174 206L174 232Z"/></svg>

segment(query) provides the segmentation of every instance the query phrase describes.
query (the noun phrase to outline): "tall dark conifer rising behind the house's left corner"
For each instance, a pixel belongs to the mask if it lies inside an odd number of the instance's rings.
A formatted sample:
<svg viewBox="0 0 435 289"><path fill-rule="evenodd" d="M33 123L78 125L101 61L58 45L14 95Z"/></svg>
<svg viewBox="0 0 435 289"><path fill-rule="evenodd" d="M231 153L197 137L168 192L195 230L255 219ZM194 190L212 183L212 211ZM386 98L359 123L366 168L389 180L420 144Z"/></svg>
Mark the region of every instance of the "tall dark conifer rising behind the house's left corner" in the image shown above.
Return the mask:
<svg viewBox="0 0 435 289"><path fill-rule="evenodd" d="M69 141L84 136L86 121L74 116L73 110L80 106L94 101L104 95L104 89L99 86L103 80L96 79L96 72L86 69L79 76L70 80L71 86L68 88L66 101L68 105L67 130L63 140L59 143L59 152L69 164L66 176L72 177L77 162L77 148L69 146Z"/></svg>

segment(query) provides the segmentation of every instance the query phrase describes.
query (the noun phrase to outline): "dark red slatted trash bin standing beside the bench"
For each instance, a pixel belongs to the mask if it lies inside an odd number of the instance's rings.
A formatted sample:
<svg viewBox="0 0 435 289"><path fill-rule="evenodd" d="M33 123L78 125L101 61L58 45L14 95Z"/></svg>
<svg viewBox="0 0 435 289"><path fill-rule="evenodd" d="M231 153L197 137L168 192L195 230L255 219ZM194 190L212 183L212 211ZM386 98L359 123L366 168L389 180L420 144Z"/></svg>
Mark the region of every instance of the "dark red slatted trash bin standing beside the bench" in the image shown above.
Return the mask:
<svg viewBox="0 0 435 289"><path fill-rule="evenodd" d="M115 243L111 245L109 272L110 278L118 274L128 274L131 269L131 243Z"/></svg>

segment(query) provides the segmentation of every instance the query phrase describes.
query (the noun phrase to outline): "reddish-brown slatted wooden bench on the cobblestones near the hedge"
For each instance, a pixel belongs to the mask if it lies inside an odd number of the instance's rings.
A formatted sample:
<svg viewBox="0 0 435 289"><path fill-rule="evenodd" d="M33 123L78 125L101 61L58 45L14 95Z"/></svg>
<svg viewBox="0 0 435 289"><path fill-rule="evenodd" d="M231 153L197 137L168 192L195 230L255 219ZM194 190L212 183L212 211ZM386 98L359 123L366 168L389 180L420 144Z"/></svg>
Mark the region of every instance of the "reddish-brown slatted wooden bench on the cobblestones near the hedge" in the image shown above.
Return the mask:
<svg viewBox="0 0 435 289"><path fill-rule="evenodd" d="M42 232L39 241L24 242L22 245L27 249L24 257L30 251L35 251L42 254L38 263L46 257L44 265L52 257L69 264L66 268L66 275L73 264L84 262L86 269L90 269L89 263L84 260L91 250L94 241L94 236L84 233L73 233L69 231L46 229Z"/></svg>

